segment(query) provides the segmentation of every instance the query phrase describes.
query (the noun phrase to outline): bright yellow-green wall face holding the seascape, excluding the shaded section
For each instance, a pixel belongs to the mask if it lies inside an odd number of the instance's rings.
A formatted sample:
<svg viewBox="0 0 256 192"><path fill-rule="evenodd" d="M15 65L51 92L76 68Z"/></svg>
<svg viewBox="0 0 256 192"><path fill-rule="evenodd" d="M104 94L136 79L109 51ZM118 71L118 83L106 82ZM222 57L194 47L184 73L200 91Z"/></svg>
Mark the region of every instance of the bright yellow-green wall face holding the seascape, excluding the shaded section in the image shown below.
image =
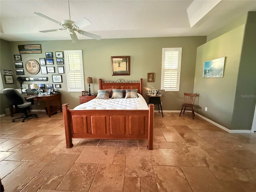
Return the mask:
<svg viewBox="0 0 256 192"><path fill-rule="evenodd" d="M244 25L197 49L194 92L199 93L200 107L195 111L228 129L234 108L243 35ZM226 57L223 78L202 78L204 62L221 57Z"/></svg>

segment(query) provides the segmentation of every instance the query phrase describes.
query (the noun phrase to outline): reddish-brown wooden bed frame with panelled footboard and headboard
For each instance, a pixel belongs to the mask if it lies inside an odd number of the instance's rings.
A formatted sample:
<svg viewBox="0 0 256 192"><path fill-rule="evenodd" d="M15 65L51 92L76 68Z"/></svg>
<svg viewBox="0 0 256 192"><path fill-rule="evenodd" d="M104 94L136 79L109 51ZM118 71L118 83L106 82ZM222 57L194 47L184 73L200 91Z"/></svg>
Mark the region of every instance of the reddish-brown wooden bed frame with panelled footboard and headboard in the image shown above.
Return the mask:
<svg viewBox="0 0 256 192"><path fill-rule="evenodd" d="M102 81L100 89L138 89L142 94L140 81ZM97 139L148 139L148 149L153 149L154 105L148 110L70 110L63 104L66 134L66 148L71 148L72 138Z"/></svg>

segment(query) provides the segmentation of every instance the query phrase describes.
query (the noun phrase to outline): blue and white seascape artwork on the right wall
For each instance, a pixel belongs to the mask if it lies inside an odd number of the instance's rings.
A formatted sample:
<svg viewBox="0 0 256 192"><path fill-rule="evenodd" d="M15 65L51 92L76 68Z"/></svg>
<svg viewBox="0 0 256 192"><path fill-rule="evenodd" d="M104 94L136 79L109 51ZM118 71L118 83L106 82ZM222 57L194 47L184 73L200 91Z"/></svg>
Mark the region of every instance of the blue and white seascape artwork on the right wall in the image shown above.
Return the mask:
<svg viewBox="0 0 256 192"><path fill-rule="evenodd" d="M203 78L223 77L225 58L222 57L204 62Z"/></svg>

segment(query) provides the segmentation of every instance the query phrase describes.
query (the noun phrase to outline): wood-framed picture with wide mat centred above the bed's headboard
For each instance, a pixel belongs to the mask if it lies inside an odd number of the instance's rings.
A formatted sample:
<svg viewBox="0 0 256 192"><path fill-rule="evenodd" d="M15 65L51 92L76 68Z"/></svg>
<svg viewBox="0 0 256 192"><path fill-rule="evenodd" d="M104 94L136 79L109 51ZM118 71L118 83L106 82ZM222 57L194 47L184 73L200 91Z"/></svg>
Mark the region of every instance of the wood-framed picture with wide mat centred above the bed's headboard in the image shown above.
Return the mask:
<svg viewBox="0 0 256 192"><path fill-rule="evenodd" d="M130 56L112 56L112 75L130 75Z"/></svg>

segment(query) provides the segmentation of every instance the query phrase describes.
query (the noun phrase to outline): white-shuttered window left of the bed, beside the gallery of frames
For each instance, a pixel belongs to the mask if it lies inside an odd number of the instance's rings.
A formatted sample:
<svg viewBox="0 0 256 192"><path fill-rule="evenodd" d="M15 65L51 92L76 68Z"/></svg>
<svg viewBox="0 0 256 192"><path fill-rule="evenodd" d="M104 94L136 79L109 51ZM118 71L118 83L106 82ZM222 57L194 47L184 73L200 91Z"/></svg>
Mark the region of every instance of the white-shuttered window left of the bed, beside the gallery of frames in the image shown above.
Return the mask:
<svg viewBox="0 0 256 192"><path fill-rule="evenodd" d="M68 92L84 91L82 50L64 51Z"/></svg>

